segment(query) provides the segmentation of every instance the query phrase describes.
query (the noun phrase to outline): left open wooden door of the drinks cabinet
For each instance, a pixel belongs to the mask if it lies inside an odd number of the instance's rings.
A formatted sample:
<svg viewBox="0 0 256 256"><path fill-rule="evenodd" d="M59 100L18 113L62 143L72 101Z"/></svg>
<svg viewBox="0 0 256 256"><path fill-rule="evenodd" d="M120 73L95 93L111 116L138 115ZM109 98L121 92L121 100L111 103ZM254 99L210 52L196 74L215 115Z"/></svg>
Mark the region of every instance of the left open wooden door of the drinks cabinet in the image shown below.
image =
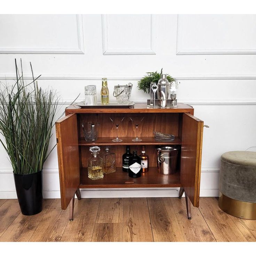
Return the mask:
<svg viewBox="0 0 256 256"><path fill-rule="evenodd" d="M69 114L55 123L61 208L66 209L80 184L77 114Z"/></svg>

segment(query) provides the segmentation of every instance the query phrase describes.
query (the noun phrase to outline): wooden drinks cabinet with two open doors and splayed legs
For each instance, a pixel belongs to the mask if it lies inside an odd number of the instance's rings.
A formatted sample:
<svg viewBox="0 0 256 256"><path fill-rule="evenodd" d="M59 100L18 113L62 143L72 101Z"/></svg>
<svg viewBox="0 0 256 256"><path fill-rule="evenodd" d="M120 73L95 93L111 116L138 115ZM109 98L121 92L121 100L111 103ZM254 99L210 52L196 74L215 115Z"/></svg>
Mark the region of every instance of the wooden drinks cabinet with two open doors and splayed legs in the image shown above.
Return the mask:
<svg viewBox="0 0 256 256"><path fill-rule="evenodd" d="M203 121L194 117L190 105L179 103L176 108L153 109L146 103L136 103L129 108L81 108L71 105L65 110L66 116L56 122L56 138L61 189L61 207L70 205L70 220L73 220L74 197L81 199L80 189L85 188L145 188L180 187L179 198L185 192L187 216L191 219L190 202L199 207ZM119 126L122 142L113 142L116 137L115 125L110 117L123 116ZM135 127L129 117L141 116L144 120L138 127L142 141L134 142ZM98 138L87 142L83 136L82 123L98 123ZM173 142L157 142L153 131L175 135ZM91 156L90 146L111 145L115 153L116 172L105 174L103 179L88 178L87 160ZM122 171L122 154L126 145L131 151L141 151L146 146L149 155L149 171L140 178L130 178ZM177 172L162 175L157 169L156 145L180 145ZM103 150L103 149L102 149Z"/></svg>

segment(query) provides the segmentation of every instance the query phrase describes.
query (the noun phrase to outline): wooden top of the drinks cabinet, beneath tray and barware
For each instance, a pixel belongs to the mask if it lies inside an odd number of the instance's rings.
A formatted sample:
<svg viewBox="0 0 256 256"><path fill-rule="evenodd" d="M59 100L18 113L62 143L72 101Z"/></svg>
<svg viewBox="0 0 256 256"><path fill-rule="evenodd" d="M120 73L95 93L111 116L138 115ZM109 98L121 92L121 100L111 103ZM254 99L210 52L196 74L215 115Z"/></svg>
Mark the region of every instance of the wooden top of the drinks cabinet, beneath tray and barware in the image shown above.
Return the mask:
<svg viewBox="0 0 256 256"><path fill-rule="evenodd" d="M66 114L71 113L193 113L193 107L184 103L178 103L178 107L154 109L148 107L147 103L135 103L130 107L114 108L81 108L77 105L70 105L66 108Z"/></svg>

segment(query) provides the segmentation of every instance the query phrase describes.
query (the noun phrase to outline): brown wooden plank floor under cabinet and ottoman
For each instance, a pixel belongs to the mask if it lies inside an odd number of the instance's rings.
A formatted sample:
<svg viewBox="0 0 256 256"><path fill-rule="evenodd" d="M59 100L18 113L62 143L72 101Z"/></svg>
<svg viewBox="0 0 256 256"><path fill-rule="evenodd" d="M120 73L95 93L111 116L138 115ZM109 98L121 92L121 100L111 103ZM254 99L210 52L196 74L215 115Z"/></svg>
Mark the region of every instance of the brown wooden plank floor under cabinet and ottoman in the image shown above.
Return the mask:
<svg viewBox="0 0 256 256"><path fill-rule="evenodd" d="M184 198L81 199L70 222L60 199L44 199L34 216L22 215L16 199L0 199L0 241L256 241L256 220L224 213L216 198L200 198L191 212L188 220Z"/></svg>

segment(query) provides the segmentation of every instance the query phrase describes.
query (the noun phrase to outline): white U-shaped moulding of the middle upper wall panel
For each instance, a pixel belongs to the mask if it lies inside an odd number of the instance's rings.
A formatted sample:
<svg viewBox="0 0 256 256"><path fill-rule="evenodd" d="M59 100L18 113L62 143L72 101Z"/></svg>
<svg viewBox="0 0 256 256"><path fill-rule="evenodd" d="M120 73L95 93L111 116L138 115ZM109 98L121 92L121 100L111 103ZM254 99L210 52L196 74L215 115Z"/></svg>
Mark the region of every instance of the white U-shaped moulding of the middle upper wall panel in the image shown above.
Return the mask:
<svg viewBox="0 0 256 256"><path fill-rule="evenodd" d="M155 15L151 14L150 49L109 49L107 34L107 14L101 15L103 55L155 55L156 26Z"/></svg>

